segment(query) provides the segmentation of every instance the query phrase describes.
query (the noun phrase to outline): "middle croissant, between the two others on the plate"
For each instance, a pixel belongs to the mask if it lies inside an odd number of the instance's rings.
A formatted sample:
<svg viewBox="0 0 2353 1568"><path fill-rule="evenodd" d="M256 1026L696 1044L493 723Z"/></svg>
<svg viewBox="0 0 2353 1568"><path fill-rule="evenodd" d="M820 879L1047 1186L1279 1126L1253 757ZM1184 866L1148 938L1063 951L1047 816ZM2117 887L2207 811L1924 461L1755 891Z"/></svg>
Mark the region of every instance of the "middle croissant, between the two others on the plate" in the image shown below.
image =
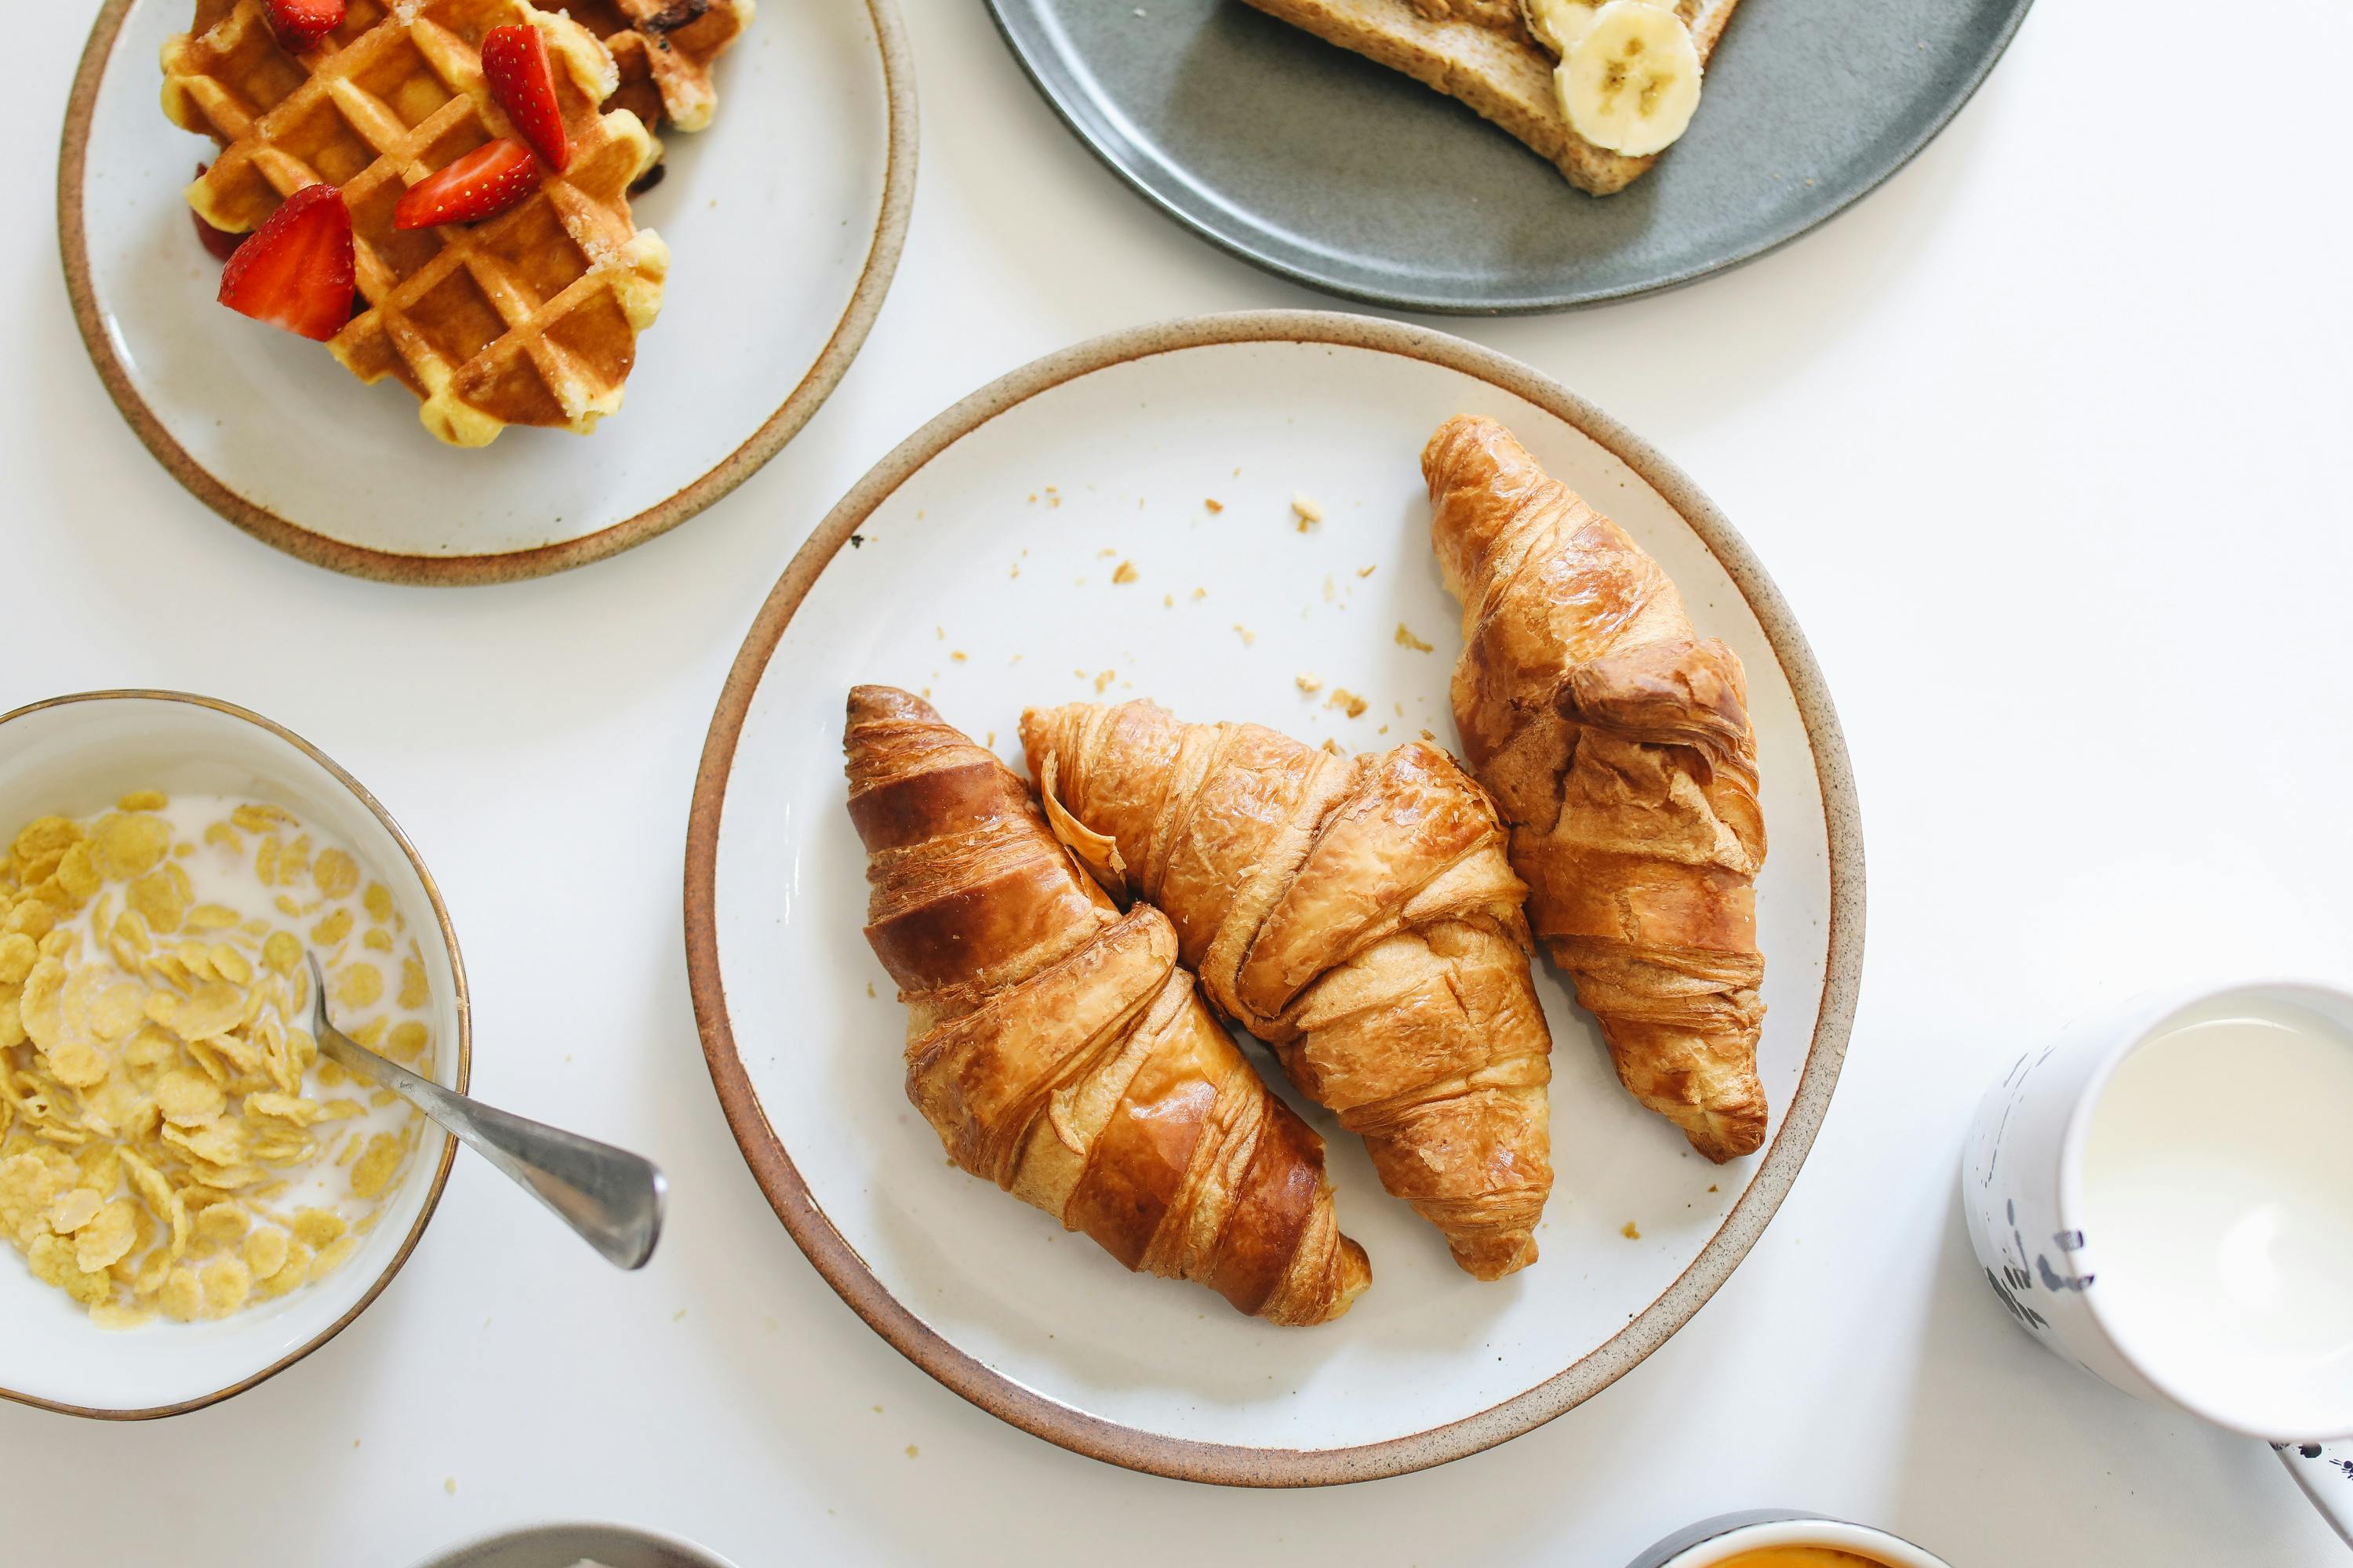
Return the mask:
<svg viewBox="0 0 2353 1568"><path fill-rule="evenodd" d="M1454 759L1419 741L1334 757L1153 703L1033 708L1021 745L1082 858L1160 905L1209 999L1365 1135L1454 1262L1478 1279L1534 1262L1553 1041L1527 889Z"/></svg>

